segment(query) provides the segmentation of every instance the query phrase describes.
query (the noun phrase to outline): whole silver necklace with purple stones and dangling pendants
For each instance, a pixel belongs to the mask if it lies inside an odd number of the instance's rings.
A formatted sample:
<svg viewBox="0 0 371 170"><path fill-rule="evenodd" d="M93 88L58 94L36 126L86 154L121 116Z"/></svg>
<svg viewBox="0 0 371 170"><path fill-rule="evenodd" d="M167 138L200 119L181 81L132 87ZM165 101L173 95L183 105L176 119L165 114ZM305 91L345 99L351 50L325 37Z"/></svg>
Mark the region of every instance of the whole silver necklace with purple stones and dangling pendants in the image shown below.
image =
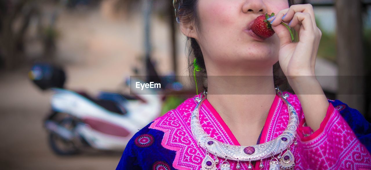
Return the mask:
<svg viewBox="0 0 371 170"><path fill-rule="evenodd" d="M195 97L195 101L198 102L193 113L191 115L191 130L194 139L197 140L198 146L206 150L206 156L202 161L203 170L215 170L216 164L219 163L218 157L225 159L221 162L221 170L230 170L230 164L227 160L237 161L237 169L240 169L239 161L249 161L248 169L252 169L251 161L260 160L260 169L263 169L263 159L271 159L269 163L269 169L293 169L295 166L295 159L290 151L290 145L294 143L296 146L296 129L299 126L298 114L294 107L286 100L289 95L286 93L282 95L282 91L275 88L276 93L286 103L289 111L289 123L286 129L277 138L267 141L265 143L256 144L253 146L236 146L227 143L220 142L210 137L200 124L198 117L201 104L206 99L207 90L201 93L200 97ZM286 150L285 154L282 152ZM210 154L215 156L213 159ZM278 155L279 154L279 155ZM277 157L275 157L278 155Z"/></svg>

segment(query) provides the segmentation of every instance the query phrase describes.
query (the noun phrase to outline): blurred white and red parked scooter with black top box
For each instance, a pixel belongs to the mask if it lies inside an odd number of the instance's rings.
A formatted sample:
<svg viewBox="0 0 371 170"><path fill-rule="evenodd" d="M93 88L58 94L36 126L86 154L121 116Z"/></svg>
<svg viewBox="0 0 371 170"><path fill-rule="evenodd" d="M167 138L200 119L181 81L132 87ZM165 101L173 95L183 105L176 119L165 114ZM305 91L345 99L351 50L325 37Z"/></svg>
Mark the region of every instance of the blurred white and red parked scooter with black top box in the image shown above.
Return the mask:
<svg viewBox="0 0 371 170"><path fill-rule="evenodd" d="M122 150L142 127L160 115L163 97L152 89L131 89L134 95L101 91L97 97L63 88L64 71L35 64L29 77L41 89L55 93L51 113L44 121L52 150L76 154L86 146ZM132 87L137 81L129 81ZM150 95L148 95L150 94Z"/></svg>

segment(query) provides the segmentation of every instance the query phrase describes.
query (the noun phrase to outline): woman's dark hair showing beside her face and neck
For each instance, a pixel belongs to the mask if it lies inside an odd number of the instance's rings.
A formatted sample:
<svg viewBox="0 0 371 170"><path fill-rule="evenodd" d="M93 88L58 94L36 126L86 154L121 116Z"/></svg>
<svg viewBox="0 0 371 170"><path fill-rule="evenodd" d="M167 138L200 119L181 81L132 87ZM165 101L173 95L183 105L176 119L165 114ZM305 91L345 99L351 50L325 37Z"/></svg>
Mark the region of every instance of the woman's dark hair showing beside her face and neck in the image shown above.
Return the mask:
<svg viewBox="0 0 371 170"><path fill-rule="evenodd" d="M295 4L294 0L288 0L289 6ZM196 28L196 30L200 29L200 18L198 17L197 13L197 3L198 0L183 0L180 4L180 10L179 10L179 20L182 23L190 23L192 26ZM292 30L294 34L295 31ZM196 31L198 34L198 37L202 37L200 34L200 31ZM295 39L297 37L295 36ZM201 51L200 46L198 45L196 39L192 37L187 37L187 47L188 47L188 71L190 72L190 75L193 75L193 61L196 58L197 64L202 68L201 71L198 71L196 73L197 75L197 82L200 82L202 84L203 89L207 88L206 80L207 80L207 74L206 74L206 66L204 57ZM193 80L193 77L191 78ZM273 64L273 81L274 86L283 86L280 87L280 89L285 91L290 91L293 93L291 87L289 86L289 83L285 77L285 75L282 72L282 69L279 65L279 62ZM197 87L196 87L197 88ZM203 90L201 89L201 90Z"/></svg>

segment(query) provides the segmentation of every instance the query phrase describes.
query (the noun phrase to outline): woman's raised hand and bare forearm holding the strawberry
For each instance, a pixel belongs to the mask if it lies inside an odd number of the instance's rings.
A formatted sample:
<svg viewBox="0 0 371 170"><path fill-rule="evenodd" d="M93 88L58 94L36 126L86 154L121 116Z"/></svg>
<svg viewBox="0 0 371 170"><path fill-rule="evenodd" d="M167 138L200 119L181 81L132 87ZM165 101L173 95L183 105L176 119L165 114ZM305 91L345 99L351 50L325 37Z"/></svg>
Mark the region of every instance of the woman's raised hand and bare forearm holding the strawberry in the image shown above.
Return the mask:
<svg viewBox="0 0 371 170"><path fill-rule="evenodd" d="M316 26L313 7L311 4L292 5L269 21L273 21L272 29L280 41L278 60L281 69L298 96L306 123L316 131L326 116L329 103L314 73L322 33ZM280 24L282 21L298 32L299 42L291 42L290 32Z"/></svg>

